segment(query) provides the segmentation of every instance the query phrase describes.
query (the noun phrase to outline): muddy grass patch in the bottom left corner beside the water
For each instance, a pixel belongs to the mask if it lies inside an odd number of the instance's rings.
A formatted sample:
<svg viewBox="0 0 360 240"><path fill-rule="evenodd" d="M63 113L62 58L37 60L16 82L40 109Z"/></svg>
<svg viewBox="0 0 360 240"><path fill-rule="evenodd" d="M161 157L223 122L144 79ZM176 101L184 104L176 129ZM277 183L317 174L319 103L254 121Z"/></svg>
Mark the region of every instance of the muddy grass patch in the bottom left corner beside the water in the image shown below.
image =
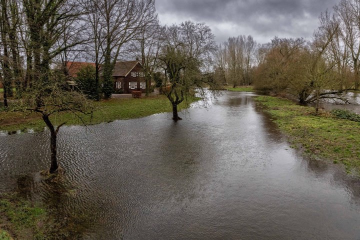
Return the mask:
<svg viewBox="0 0 360 240"><path fill-rule="evenodd" d="M30 202L18 193L0 194L0 240L80 239L86 216L59 213L56 206Z"/></svg>

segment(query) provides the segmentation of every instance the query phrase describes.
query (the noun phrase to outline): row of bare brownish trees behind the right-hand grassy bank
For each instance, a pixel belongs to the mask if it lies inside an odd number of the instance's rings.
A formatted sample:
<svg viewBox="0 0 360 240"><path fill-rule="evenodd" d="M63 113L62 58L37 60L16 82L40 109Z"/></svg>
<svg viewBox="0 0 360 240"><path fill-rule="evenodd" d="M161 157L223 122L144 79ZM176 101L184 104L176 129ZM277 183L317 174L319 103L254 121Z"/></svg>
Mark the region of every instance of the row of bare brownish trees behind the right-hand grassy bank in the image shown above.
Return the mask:
<svg viewBox="0 0 360 240"><path fill-rule="evenodd" d="M338 98L360 85L360 4L341 0L319 16L311 40L274 37L256 44L230 37L214 54L214 76L225 85L249 85L287 93L299 102Z"/></svg>

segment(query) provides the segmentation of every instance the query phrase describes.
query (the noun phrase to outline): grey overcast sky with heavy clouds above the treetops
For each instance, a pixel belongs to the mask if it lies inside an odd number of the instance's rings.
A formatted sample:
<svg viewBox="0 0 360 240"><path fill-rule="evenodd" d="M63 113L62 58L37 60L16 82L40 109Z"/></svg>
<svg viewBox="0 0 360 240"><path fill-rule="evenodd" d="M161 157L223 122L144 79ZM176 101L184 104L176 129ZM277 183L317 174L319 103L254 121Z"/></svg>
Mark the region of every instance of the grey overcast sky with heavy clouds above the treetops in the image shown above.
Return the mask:
<svg viewBox="0 0 360 240"><path fill-rule="evenodd" d="M339 0L155 0L162 24L205 22L219 43L252 35L259 43L278 37L310 39L318 16Z"/></svg>

